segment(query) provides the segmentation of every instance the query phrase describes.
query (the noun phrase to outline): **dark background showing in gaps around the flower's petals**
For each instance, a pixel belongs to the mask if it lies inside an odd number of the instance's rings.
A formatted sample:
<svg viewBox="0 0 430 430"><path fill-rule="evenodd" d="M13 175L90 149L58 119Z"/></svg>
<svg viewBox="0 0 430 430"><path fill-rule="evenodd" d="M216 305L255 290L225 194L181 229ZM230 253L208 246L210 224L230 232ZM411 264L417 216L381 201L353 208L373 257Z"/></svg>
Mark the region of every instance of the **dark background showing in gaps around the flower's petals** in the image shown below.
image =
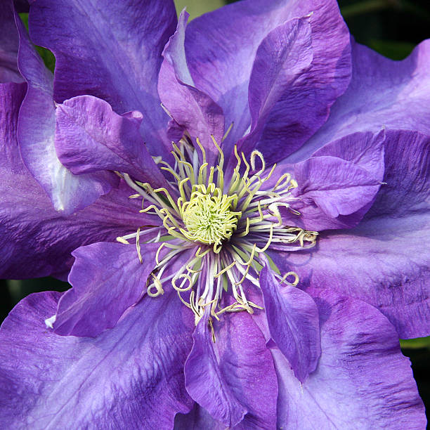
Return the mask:
<svg viewBox="0 0 430 430"><path fill-rule="evenodd" d="M226 0L226 3L233 1ZM181 10L188 3L188 11L193 18L218 7L221 2L178 0L176 4ZM430 0L339 0L339 6L356 40L393 60L405 58L420 41L430 38ZM21 16L26 21L26 15ZM55 61L52 54L41 51L41 55L52 70ZM4 320L11 308L27 294L48 289L64 291L68 287L66 282L53 278L0 280L0 320ZM430 381L427 371L430 338L400 341L400 344L405 356L412 361L419 393L424 403L430 406ZM428 418L429 409L427 408Z"/></svg>

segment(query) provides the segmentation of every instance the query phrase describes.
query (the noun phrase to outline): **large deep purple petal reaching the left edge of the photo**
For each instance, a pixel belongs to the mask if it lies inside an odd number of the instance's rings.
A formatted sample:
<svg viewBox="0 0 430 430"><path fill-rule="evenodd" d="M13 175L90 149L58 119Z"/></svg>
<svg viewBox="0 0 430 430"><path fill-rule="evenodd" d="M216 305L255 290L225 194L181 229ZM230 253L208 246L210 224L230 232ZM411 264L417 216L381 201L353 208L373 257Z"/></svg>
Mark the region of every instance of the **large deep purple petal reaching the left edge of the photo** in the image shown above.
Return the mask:
<svg viewBox="0 0 430 430"><path fill-rule="evenodd" d="M16 129L26 84L0 84L0 276L34 278L67 271L70 252L81 245L159 225L157 216L139 214L141 204L121 184L72 216L53 209L20 157Z"/></svg>

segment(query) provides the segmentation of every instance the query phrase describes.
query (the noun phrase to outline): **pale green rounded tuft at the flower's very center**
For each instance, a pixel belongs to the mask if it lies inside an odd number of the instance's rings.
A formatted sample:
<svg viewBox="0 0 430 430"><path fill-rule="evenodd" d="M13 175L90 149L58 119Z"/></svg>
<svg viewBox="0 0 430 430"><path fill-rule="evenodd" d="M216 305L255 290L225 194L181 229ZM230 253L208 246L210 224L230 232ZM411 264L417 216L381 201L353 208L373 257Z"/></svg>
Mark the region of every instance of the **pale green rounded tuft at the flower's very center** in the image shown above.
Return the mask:
<svg viewBox="0 0 430 430"><path fill-rule="evenodd" d="M190 200L183 204L183 223L188 240L220 245L233 234L242 212L233 211L237 195L225 195L214 183L197 185Z"/></svg>

